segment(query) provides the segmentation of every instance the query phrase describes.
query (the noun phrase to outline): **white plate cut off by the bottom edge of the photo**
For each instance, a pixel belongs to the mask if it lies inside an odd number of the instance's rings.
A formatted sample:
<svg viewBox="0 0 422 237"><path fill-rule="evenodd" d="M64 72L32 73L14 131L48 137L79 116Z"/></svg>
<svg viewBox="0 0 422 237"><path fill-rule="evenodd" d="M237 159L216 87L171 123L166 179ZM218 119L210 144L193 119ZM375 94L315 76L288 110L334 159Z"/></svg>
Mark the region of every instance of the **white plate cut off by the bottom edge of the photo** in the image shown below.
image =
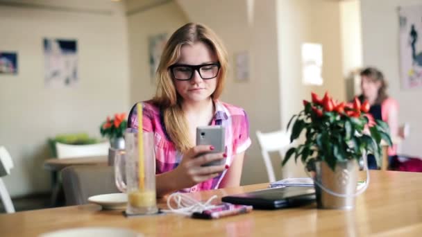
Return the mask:
<svg viewBox="0 0 422 237"><path fill-rule="evenodd" d="M101 237L142 237L143 234L136 233L130 229L120 229L120 228L109 228L109 227L86 227L86 228L73 228L73 229L62 229L59 231L53 231L49 233L41 234L40 237L92 237L92 236L101 236Z"/></svg>

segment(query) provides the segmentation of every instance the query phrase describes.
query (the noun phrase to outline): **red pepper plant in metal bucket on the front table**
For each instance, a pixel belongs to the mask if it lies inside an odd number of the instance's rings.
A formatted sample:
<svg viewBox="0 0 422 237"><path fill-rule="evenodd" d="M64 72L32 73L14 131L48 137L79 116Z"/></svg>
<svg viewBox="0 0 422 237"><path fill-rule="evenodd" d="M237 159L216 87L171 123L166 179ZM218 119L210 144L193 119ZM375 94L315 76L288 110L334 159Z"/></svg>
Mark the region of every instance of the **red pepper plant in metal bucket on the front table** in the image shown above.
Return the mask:
<svg viewBox="0 0 422 237"><path fill-rule="evenodd" d="M366 154L373 154L378 164L381 140L391 146L389 127L383 121L369 121L369 103L337 103L328 93L322 99L312 93L312 101L303 100L304 109L292 116L290 141L304 133L305 142L287 150L290 157L300 157L314 174L316 201L320 208L350 209L355 205L357 170ZM366 166L366 164L365 164Z"/></svg>

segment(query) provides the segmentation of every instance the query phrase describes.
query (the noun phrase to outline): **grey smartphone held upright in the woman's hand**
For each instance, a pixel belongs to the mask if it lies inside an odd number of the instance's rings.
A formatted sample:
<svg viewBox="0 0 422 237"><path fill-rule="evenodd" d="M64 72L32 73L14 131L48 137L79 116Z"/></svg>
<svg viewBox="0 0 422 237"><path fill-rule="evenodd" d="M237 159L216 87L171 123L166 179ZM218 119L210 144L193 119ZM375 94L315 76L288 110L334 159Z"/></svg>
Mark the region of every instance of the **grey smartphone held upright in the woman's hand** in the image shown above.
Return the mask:
<svg viewBox="0 0 422 237"><path fill-rule="evenodd" d="M210 145L214 146L214 150L208 153L224 153L226 147L224 146L225 130L222 125L201 126L196 128L196 146ZM201 154L203 155L203 154ZM218 161L211 161L203 166L222 166L226 161L220 159Z"/></svg>

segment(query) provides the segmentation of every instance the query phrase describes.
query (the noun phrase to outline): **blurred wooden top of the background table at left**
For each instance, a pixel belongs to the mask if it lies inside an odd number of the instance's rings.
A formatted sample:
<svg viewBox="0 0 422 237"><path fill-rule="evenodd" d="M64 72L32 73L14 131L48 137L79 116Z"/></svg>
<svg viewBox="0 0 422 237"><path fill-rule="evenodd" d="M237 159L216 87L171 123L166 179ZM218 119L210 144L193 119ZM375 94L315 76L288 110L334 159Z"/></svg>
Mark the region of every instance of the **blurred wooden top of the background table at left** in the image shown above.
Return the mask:
<svg viewBox="0 0 422 237"><path fill-rule="evenodd" d="M93 157L75 157L57 159L51 158L44 161L44 168L47 170L62 170L67 166L81 166L81 165L107 165L107 156L93 156Z"/></svg>

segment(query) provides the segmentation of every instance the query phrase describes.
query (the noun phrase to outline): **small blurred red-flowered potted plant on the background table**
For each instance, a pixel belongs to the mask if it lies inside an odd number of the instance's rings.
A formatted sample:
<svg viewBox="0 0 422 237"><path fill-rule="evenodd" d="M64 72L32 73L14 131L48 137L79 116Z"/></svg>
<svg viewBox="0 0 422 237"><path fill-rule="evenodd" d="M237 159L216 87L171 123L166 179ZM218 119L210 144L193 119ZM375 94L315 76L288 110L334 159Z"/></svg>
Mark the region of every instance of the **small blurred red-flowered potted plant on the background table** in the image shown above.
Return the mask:
<svg viewBox="0 0 422 237"><path fill-rule="evenodd" d="M115 114L112 119L110 119L110 116L107 116L105 122L101 124L101 135L110 139L110 146L112 148L124 149L123 135L127 124L125 113Z"/></svg>

